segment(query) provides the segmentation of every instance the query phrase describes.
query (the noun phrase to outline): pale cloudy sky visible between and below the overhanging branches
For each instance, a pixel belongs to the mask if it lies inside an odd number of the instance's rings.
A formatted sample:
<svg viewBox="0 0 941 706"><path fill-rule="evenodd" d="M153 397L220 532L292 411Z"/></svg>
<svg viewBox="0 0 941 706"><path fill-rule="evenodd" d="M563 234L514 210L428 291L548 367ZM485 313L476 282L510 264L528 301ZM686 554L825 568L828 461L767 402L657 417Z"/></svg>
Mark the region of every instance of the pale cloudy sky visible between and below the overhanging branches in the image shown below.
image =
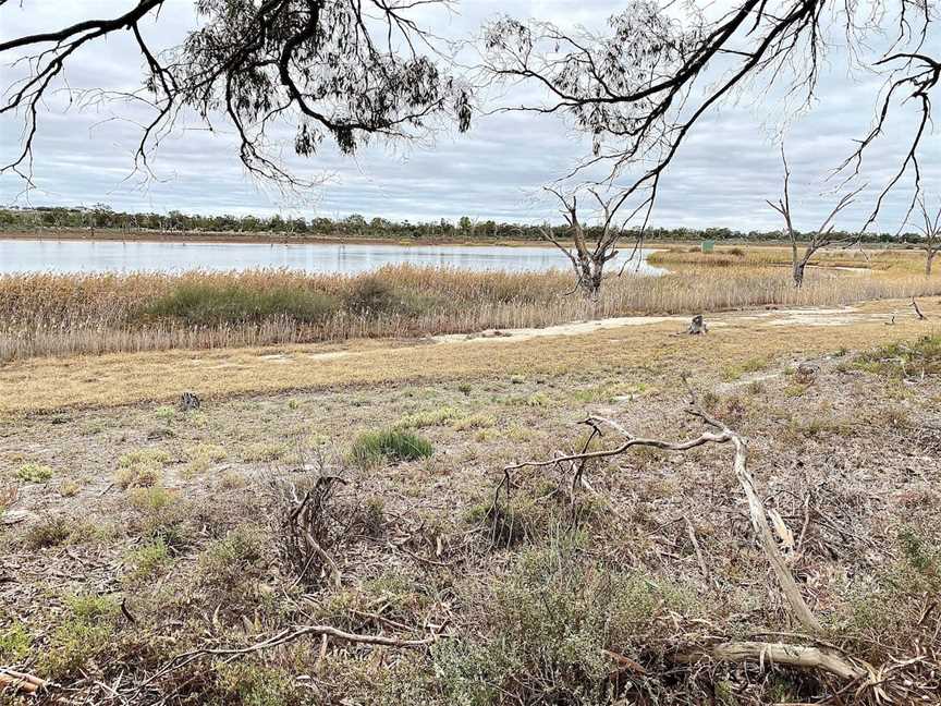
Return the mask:
<svg viewBox="0 0 941 706"><path fill-rule="evenodd" d="M54 29L89 16L113 16L133 4L134 0L5 3L0 7L0 38ZM601 31L607 17L625 4L615 0L583 0L577 4L566 0L463 0L450 11L423 12L436 34L467 39L499 13ZM158 47L179 42L196 27L192 8L192 0L169 0L159 19L145 25L148 40ZM9 65L0 66L0 84L5 87L20 75L16 72ZM83 48L65 78L72 88L131 90L140 85L143 75L132 38L121 33ZM743 231L779 228L780 216L766 199L777 199L781 193L778 137L783 134L793 173L795 226L816 228L839 199L833 193L834 181L827 178L852 151L853 141L868 132L881 83L876 76L851 75L838 38L821 77L821 99L809 110L795 114L779 100L745 94L737 102L707 113L664 174L652 224ZM506 101L508 94L490 92L482 98L496 106ZM140 184L129 176L139 124L147 117L143 107L108 102L77 109L75 104L66 104L60 90L47 108L40 114L35 143L36 188L24 193L22 180L2 174L0 205L107 203L129 211L558 221L555 204L547 199L541 187L588 155L584 136L554 117L520 112L477 115L468 133L441 132L415 145L370 145L355 158L330 147L309 159L289 155L286 161L295 173L322 181L298 200L285 198L246 175L233 148L233 136L224 130L210 133L198 125L178 130L157 153L154 169L158 179ZM856 206L841 214L838 227L858 228L878 188L897 168L909 135L905 127L911 126L912 107L894 114L899 121L873 145L864 162L860 184L869 186ZM14 117L0 117L3 163L19 149L21 124ZM939 130L925 137L921 150L929 202L931 197L941 202ZM876 230L895 231L900 227L911 194L911 183L900 184Z"/></svg>

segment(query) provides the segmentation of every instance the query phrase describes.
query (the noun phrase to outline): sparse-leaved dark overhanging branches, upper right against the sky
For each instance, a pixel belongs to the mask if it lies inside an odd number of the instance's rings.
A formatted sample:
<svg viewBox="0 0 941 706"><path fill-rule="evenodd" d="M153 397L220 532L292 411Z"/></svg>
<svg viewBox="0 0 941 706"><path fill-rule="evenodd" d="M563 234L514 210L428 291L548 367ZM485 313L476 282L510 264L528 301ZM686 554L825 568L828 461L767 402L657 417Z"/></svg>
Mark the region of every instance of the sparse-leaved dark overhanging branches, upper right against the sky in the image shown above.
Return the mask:
<svg viewBox="0 0 941 706"><path fill-rule="evenodd" d="M829 37L839 34L845 37L848 69L877 73L885 83L873 96L871 130L834 166L838 171L856 176L864 154L890 130L901 106L916 111L897 170L861 230L875 222L885 195L906 174L915 195L919 192L930 94L941 83L933 24L938 0L735 0L721 13L710 3L631 0L626 5L610 17L603 36L510 17L485 31L485 75L503 85L529 84L545 96L517 106L509 105L511 94L504 110L567 115L591 136L591 156L570 176L600 166L607 169L603 181L626 178L628 193L656 195L696 123L724 99L755 86L807 107L826 102L830 96L818 95L819 66ZM914 206L915 196L908 214Z"/></svg>

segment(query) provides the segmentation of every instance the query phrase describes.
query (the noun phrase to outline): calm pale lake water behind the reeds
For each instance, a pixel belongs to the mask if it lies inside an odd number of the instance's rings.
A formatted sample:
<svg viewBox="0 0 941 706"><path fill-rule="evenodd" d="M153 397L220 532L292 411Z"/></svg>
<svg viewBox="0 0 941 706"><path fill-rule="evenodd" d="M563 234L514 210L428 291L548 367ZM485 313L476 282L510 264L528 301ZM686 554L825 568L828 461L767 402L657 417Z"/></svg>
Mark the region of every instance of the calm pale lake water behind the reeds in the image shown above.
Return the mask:
<svg viewBox="0 0 941 706"><path fill-rule="evenodd" d="M624 257L631 254L625 248ZM662 270L641 254L639 271ZM145 243L120 241L2 240L0 275L12 272L129 272L240 270L276 267L307 272L356 273L383 265L459 267L471 270L541 271L569 268L565 256L552 247L384 244L281 243ZM609 268L620 268L614 259ZM626 269L634 271L636 261Z"/></svg>

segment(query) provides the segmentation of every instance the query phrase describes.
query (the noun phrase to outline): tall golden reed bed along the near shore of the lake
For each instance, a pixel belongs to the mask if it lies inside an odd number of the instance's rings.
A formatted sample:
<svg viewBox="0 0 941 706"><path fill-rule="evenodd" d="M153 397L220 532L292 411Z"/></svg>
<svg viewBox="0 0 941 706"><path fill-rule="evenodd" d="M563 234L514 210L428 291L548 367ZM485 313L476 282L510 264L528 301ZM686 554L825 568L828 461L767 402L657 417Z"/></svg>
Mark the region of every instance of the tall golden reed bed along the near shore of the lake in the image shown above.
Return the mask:
<svg viewBox="0 0 941 706"><path fill-rule="evenodd" d="M612 278L598 302L569 294L571 276L561 271L402 265L359 276L289 270L5 276L0 277L0 360L424 337L941 293L941 277L928 280L907 267L863 275L819 269L795 290L785 268L746 264L734 254L705 261L689 253L672 255L676 271ZM731 264L720 264L730 257Z"/></svg>

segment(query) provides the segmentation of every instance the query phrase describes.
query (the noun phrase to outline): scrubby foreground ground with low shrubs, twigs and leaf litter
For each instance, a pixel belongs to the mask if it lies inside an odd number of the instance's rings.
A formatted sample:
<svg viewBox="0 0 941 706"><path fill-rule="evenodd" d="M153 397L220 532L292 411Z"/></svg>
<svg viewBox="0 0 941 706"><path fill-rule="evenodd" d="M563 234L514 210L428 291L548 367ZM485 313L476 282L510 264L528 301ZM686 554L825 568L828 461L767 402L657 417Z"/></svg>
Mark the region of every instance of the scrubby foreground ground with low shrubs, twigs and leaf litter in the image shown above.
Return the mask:
<svg viewBox="0 0 941 706"><path fill-rule="evenodd" d="M860 350L823 331L810 361L793 329L673 339L748 440L818 636L730 448L598 459L587 486L530 467L498 491L513 462L616 446L586 413L699 433L675 365L585 351L554 373L491 356L459 380L8 416L0 664L96 704L934 703L941 340L901 329ZM665 336L634 331L612 336ZM742 643L859 675L721 650Z"/></svg>

